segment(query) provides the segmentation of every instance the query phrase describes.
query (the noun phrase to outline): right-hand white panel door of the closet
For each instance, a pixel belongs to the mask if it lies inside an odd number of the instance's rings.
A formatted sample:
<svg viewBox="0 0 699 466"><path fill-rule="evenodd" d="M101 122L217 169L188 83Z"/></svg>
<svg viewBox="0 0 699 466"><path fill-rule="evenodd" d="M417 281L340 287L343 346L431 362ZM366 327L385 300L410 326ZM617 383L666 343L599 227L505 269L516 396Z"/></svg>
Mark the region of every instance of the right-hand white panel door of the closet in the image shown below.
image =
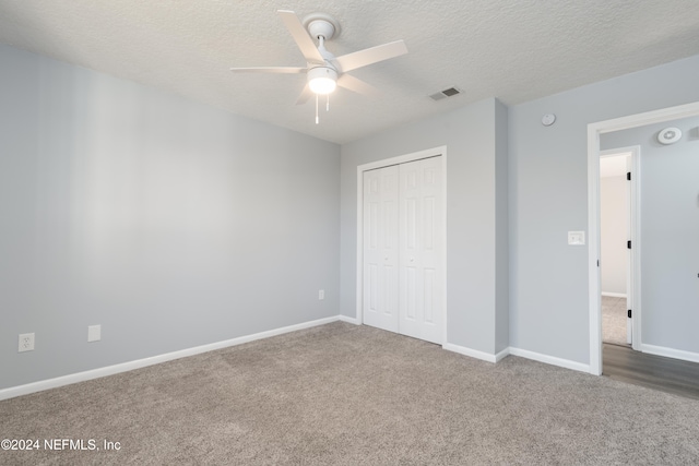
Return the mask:
<svg viewBox="0 0 699 466"><path fill-rule="evenodd" d="M441 157L400 166L399 332L442 343Z"/></svg>

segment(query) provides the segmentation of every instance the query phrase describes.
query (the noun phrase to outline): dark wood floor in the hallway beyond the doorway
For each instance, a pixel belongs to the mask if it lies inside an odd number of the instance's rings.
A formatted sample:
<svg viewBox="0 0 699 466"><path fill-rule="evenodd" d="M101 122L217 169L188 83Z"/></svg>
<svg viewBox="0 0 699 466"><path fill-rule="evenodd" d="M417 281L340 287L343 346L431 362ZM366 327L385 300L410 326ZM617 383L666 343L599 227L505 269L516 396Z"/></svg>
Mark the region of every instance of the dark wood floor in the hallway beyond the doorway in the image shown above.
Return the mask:
<svg viewBox="0 0 699 466"><path fill-rule="evenodd" d="M699 399L699 363L603 344L602 375Z"/></svg>

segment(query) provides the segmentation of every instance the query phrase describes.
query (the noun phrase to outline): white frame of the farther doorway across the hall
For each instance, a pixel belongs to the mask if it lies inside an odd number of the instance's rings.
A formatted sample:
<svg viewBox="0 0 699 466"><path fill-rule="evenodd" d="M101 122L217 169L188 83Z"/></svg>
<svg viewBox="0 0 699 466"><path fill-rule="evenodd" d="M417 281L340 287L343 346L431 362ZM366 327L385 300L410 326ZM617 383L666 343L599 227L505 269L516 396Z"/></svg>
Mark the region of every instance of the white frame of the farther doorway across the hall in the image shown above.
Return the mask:
<svg viewBox="0 0 699 466"><path fill-rule="evenodd" d="M627 228L628 238L631 241L631 250L627 255L626 264L626 302L627 310L632 310L631 319L631 347L641 348L641 146L615 147L600 152L600 158L628 155L630 164L627 172L631 174L628 189ZM599 218L599 216L597 216ZM601 264L604 265L604 264ZM600 267L602 273L602 267Z"/></svg>

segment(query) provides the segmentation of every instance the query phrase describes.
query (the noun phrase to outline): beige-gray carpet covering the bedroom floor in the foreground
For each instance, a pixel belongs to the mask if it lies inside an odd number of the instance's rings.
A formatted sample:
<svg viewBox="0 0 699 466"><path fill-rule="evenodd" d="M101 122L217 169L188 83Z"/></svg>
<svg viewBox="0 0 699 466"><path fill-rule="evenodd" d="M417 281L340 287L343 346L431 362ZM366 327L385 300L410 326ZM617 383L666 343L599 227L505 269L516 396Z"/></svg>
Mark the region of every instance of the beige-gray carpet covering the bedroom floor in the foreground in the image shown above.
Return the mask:
<svg viewBox="0 0 699 466"><path fill-rule="evenodd" d="M332 323L0 402L0 464L680 465L699 402Z"/></svg>

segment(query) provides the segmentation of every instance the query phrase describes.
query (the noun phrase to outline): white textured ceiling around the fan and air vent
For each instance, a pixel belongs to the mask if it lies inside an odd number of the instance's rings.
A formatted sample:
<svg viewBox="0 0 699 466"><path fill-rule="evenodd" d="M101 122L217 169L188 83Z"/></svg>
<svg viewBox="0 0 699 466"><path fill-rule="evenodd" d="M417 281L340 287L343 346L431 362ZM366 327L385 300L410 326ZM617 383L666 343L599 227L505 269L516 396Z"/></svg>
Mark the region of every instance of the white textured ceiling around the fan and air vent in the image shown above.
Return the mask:
<svg viewBox="0 0 699 466"><path fill-rule="evenodd" d="M408 55L351 74L330 112L297 106L303 67L276 10L334 16L335 56L404 39ZM699 53L697 0L0 0L0 43L336 143L486 97L508 105ZM464 93L427 96L457 86Z"/></svg>

